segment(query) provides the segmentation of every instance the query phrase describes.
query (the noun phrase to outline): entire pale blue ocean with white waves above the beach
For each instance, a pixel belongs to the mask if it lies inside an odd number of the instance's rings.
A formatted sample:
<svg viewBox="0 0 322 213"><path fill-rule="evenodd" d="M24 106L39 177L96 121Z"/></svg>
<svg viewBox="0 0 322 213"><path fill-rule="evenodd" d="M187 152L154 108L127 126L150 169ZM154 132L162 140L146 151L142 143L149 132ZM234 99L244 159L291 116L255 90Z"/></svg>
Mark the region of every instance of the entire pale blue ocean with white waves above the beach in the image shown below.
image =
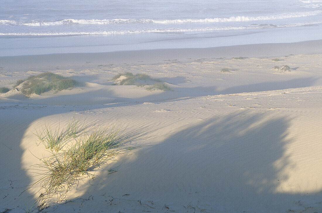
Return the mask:
<svg viewBox="0 0 322 213"><path fill-rule="evenodd" d="M322 0L1 0L0 56L322 39Z"/></svg>

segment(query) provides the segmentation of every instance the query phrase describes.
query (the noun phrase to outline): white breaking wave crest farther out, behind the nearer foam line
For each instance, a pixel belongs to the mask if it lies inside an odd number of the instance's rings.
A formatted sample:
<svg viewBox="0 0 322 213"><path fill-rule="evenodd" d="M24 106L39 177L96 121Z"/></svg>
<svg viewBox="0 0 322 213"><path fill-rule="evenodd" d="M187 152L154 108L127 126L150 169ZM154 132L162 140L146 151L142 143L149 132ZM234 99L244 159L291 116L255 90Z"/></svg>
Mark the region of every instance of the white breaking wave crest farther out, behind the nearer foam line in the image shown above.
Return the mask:
<svg viewBox="0 0 322 213"><path fill-rule="evenodd" d="M33 21L33 22L15 22L10 20L0 20L0 24L13 24L25 26L52 26L62 24L127 24L127 23L158 23L158 24L175 24L175 23L188 23L188 22L245 22L245 21L261 21L261 20L274 20L274 19L287 19L298 18L305 16L312 16L322 13L321 10L311 12L298 12L298 13L284 13L278 15L268 16L232 16L230 18L205 18L205 19L169 19L169 20L154 20L154 19L64 19L61 21L46 22L46 21Z"/></svg>

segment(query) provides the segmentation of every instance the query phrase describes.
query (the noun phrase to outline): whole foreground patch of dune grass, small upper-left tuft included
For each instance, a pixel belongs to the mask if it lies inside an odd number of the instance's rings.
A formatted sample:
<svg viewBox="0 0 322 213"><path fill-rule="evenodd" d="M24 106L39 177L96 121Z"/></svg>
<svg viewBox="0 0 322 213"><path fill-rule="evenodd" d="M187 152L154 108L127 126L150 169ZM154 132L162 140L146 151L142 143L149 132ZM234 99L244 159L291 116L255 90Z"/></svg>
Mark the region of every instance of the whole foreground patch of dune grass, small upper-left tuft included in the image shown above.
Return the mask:
<svg viewBox="0 0 322 213"><path fill-rule="evenodd" d="M46 126L43 134L38 137L46 148L52 144L52 141L54 141L53 145L58 147L57 144L62 141L61 138L72 137L73 140L59 150L48 148L51 156L40 159L41 164L34 165L37 169L32 169L36 176L40 176L32 186L40 183L45 190L44 194L67 193L77 181L83 178L83 175L89 175L88 172L114 159L119 153L118 147L122 144L119 129L94 128L90 132L86 130L80 132L82 128L83 123L75 118L60 134L58 131L52 134L50 131L52 128L49 125Z"/></svg>

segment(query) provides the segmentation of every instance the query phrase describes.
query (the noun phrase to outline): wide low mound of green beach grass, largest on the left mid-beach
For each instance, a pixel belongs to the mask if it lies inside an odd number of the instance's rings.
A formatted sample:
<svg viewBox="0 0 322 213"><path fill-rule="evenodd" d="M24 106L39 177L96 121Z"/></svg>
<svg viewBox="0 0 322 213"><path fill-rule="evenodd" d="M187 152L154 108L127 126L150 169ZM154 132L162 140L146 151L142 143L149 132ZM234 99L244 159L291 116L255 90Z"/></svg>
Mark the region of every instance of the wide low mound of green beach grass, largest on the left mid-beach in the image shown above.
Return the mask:
<svg viewBox="0 0 322 213"><path fill-rule="evenodd" d="M29 76L26 79L21 79L14 85L23 94L30 96L31 94L41 94L50 90L61 91L70 89L79 85L73 79L64 77L62 75L45 72L39 75Z"/></svg>

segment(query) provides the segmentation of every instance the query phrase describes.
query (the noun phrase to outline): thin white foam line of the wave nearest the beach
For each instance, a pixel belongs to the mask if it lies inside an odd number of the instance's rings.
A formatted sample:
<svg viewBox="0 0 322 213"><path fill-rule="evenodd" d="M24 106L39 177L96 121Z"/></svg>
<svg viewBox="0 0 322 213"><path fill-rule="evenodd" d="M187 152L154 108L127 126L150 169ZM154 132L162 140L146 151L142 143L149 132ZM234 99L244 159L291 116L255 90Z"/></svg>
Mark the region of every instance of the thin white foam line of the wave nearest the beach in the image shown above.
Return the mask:
<svg viewBox="0 0 322 213"><path fill-rule="evenodd" d="M148 29L148 30L124 30L124 31L87 31L87 32L19 32L19 33L0 33L0 36L61 36L61 35L121 35L133 33L171 33L171 32L194 32L194 31L218 31L218 30L243 30L243 29L264 29L264 28L281 28L295 27L309 24L318 24L322 22L297 23L288 25L257 24L240 27L205 27L205 28L167 28L167 29Z"/></svg>

